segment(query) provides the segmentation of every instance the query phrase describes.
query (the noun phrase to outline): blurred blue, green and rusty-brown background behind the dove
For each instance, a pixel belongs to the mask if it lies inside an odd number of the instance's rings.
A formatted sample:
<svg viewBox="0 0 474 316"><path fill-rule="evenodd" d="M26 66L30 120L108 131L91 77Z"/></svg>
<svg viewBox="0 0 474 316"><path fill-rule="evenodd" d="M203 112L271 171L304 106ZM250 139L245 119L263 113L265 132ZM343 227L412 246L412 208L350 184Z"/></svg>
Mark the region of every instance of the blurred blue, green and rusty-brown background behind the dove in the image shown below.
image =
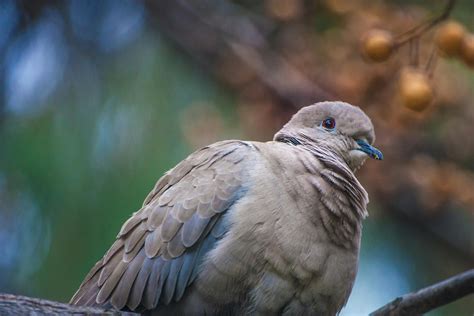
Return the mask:
<svg viewBox="0 0 474 316"><path fill-rule="evenodd" d="M368 63L445 1L0 1L0 292L68 301L155 181L193 150L269 140L341 99L376 127L359 274L342 315L474 266L474 71L440 58L422 113L397 93L408 52ZM474 31L474 3L452 12ZM420 62L432 34L421 42ZM470 315L472 296L431 315Z"/></svg>

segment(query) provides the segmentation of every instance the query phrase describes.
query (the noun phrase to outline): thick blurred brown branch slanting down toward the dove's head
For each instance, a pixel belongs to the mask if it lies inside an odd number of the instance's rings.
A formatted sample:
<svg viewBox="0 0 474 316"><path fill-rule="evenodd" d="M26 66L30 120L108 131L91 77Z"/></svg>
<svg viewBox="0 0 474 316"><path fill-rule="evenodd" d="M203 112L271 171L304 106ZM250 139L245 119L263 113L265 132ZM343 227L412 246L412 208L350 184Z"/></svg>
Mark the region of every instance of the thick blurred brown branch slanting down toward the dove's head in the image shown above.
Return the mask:
<svg viewBox="0 0 474 316"><path fill-rule="evenodd" d="M282 102L300 107L336 97L293 67L266 40L271 23L229 1L147 1L160 31L207 68L232 52ZM263 26L262 26L263 25Z"/></svg>

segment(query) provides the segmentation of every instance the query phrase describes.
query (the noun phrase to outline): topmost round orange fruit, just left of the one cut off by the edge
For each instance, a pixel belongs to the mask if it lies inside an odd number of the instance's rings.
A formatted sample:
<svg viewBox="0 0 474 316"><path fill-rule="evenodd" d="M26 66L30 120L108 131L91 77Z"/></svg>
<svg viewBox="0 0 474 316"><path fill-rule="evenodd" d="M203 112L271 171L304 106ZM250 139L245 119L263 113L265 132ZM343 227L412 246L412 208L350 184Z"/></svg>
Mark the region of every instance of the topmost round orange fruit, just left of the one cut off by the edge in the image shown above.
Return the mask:
<svg viewBox="0 0 474 316"><path fill-rule="evenodd" d="M441 25L436 32L436 45L448 56L457 55L465 34L464 27L455 21Z"/></svg>

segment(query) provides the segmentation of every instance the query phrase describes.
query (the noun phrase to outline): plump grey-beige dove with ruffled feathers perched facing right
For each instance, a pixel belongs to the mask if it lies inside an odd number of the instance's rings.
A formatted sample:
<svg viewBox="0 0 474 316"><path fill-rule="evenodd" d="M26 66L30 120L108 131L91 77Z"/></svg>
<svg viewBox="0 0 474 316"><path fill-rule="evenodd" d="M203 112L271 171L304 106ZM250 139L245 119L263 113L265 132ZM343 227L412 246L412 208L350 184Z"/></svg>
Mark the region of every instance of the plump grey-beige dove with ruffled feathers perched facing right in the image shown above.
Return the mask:
<svg viewBox="0 0 474 316"><path fill-rule="evenodd" d="M302 107L267 142L220 141L167 171L71 299L146 315L337 315L382 160L357 106Z"/></svg>

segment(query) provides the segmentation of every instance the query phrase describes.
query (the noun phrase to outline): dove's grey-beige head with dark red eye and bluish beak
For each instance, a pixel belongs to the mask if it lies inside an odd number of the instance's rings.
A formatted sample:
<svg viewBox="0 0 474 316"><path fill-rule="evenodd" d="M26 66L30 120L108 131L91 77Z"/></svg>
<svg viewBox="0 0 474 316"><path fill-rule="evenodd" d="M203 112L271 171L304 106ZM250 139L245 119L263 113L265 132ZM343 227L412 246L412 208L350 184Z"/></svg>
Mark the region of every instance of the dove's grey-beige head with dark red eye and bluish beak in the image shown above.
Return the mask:
<svg viewBox="0 0 474 316"><path fill-rule="evenodd" d="M316 146L343 158L357 170L367 157L382 160L373 147L374 126L359 108L345 102L320 102L299 110L274 140Z"/></svg>

